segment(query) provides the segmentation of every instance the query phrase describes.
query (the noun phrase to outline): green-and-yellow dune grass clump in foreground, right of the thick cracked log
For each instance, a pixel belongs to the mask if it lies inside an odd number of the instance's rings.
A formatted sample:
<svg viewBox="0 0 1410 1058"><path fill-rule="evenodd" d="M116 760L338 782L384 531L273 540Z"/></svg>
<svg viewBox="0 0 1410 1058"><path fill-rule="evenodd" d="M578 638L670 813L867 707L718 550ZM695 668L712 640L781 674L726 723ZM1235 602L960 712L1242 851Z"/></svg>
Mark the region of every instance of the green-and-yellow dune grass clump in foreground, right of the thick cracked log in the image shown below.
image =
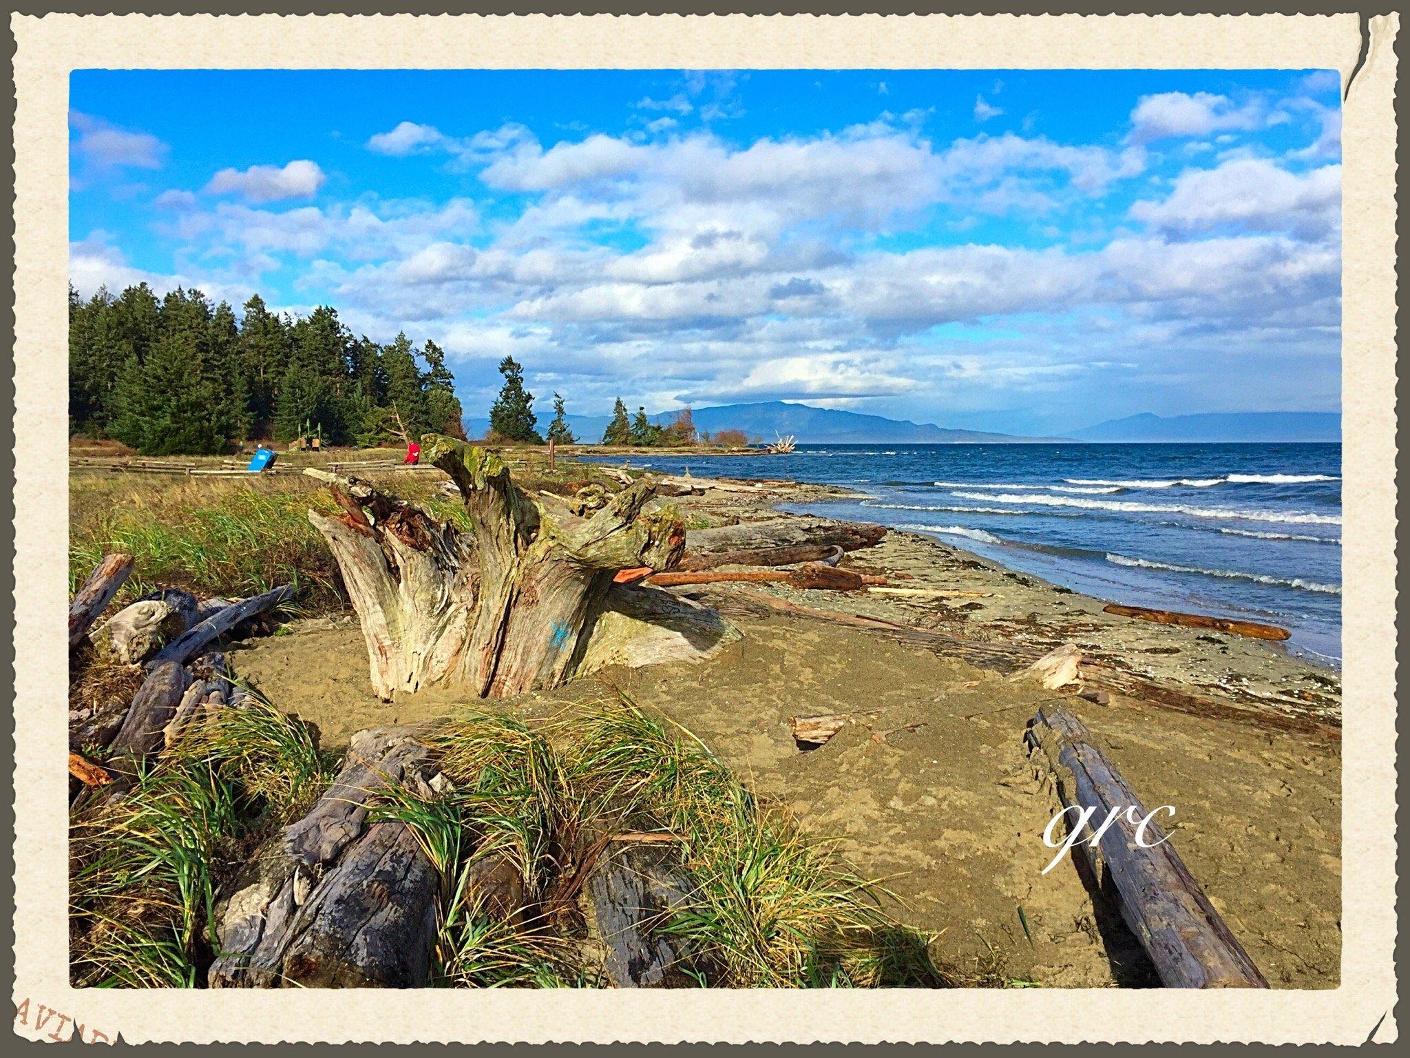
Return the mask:
<svg viewBox="0 0 1410 1058"><path fill-rule="evenodd" d="M623 832L660 834L678 849L689 896L656 928L709 968L695 971L702 985L950 983L931 959L932 938L891 921L876 887L829 845L761 805L692 735L629 701L539 728L465 712L434 748L453 790L399 790L376 811L406 822L441 873L444 985L603 983L581 923L564 911L592 868L587 839ZM517 924L478 906L467 886L494 855L510 856L527 880Z"/></svg>

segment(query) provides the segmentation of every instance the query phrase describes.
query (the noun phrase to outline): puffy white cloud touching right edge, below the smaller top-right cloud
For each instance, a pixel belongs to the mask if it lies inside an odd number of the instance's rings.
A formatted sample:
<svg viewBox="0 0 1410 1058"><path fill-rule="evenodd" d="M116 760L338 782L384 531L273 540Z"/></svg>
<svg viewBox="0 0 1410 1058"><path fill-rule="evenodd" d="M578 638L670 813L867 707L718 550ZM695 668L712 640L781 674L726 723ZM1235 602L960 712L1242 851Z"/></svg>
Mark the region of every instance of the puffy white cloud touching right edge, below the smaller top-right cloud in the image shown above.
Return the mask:
<svg viewBox="0 0 1410 1058"><path fill-rule="evenodd" d="M1131 219L1176 231L1235 224L1316 234L1334 229L1340 210L1340 165L1293 174L1266 158L1235 158L1214 169L1187 169L1169 197L1136 202Z"/></svg>

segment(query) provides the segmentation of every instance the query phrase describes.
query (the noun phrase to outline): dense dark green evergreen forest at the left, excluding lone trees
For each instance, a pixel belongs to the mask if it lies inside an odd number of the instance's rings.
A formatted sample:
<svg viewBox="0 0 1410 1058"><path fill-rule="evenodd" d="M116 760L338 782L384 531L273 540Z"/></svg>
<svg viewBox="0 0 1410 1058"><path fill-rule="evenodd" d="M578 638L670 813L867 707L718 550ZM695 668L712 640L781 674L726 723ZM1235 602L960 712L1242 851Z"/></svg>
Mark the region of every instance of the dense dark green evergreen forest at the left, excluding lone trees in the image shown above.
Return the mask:
<svg viewBox="0 0 1410 1058"><path fill-rule="evenodd" d="M327 444L464 437L454 381L434 341L355 339L330 308L278 316L255 295L237 320L195 289L158 299L141 284L83 300L69 288L70 432L147 456L289 442L305 425Z"/></svg>

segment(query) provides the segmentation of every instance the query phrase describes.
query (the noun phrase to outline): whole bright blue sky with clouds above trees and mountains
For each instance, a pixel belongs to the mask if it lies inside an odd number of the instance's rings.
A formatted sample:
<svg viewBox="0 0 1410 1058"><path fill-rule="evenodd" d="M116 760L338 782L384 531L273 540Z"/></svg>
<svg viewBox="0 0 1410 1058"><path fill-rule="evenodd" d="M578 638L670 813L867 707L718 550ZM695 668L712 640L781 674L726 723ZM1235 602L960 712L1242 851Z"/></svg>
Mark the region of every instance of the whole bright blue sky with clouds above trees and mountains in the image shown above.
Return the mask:
<svg viewBox="0 0 1410 1058"><path fill-rule="evenodd" d="M1335 411L1316 71L79 71L70 276L434 339L474 423Z"/></svg>

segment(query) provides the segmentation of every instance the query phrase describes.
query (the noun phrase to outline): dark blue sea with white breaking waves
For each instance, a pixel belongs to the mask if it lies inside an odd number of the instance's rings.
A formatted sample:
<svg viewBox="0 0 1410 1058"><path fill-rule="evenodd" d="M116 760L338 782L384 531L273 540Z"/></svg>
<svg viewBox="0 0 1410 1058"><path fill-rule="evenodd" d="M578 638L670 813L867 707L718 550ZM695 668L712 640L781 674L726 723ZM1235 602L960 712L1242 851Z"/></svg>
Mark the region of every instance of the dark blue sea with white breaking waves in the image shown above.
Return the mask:
<svg viewBox="0 0 1410 1058"><path fill-rule="evenodd" d="M847 485L790 509L928 533L1097 598L1269 621L1341 659L1340 444L799 444L602 461Z"/></svg>

